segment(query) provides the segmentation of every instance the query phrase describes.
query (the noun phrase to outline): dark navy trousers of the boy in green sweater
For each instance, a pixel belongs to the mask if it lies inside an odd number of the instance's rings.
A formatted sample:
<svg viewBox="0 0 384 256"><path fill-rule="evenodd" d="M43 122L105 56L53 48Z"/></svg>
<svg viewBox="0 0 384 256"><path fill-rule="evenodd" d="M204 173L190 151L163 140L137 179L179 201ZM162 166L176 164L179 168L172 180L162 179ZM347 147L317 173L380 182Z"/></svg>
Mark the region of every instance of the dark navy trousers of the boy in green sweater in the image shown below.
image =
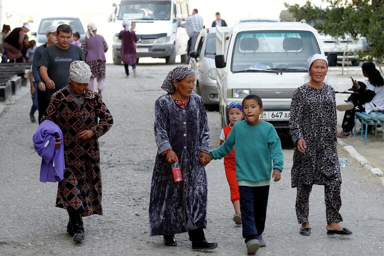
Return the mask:
<svg viewBox="0 0 384 256"><path fill-rule="evenodd" d="M245 243L264 232L269 185L261 187L238 186L242 237Z"/></svg>

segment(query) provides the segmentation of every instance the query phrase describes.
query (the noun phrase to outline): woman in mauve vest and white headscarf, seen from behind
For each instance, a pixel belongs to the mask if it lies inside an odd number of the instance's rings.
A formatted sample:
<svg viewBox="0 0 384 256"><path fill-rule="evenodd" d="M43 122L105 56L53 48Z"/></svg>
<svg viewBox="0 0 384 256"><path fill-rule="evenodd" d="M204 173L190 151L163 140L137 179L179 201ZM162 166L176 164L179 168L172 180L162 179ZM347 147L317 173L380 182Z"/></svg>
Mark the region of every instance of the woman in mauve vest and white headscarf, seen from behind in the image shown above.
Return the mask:
<svg viewBox="0 0 384 256"><path fill-rule="evenodd" d="M97 33L95 23L87 25L86 36L81 43L81 50L89 65L92 75L90 76L88 88L93 91L94 78L97 79L97 92L100 94L105 88L105 52L108 50L104 37Z"/></svg>

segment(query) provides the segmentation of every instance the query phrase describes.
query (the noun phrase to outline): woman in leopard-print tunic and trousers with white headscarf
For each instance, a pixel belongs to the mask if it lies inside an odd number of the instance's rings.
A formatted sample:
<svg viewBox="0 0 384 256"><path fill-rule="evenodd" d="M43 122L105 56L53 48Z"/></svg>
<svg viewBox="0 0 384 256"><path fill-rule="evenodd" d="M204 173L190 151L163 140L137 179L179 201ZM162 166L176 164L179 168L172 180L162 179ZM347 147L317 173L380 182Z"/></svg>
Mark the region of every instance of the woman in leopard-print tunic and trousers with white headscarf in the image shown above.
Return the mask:
<svg viewBox="0 0 384 256"><path fill-rule="evenodd" d="M297 188L296 215L300 235L309 236L309 194L312 185L323 185L327 235L351 235L342 221L341 174L337 157L336 101L325 79L328 61L321 54L308 58L305 84L298 87L290 105L289 130L295 145L291 170L292 188Z"/></svg>

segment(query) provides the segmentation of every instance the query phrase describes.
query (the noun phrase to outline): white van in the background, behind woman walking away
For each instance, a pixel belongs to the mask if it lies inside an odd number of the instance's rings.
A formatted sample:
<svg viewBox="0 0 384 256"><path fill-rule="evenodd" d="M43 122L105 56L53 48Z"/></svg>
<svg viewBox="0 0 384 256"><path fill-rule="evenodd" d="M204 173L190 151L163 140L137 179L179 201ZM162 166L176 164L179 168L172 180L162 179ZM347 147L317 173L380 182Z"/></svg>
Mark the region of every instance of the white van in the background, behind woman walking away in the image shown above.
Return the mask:
<svg viewBox="0 0 384 256"><path fill-rule="evenodd" d="M109 22L115 22L112 44L113 64L121 64L122 20L136 22L136 63L140 57L165 58L167 64L174 64L176 55L186 61L188 35L184 28L178 28L178 19L191 13L189 0L121 0L112 13ZM114 17L115 18L112 18Z"/></svg>

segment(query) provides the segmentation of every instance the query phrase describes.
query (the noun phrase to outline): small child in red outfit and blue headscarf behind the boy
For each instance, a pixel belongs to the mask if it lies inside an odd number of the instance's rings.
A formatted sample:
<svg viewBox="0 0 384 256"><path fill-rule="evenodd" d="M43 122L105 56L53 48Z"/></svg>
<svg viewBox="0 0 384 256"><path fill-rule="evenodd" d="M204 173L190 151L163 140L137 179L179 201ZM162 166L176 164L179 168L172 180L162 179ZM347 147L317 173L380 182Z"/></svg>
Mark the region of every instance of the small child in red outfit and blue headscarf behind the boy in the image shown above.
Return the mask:
<svg viewBox="0 0 384 256"><path fill-rule="evenodd" d="M231 102L228 105L228 117L229 125L222 128L220 134L220 145L224 143L228 134L232 130L233 125L237 121L242 120L242 106L239 102ZM228 155L224 156L224 168L225 176L228 181L229 190L230 190L230 201L233 204L234 216L233 222L236 225L241 225L241 214L240 214L240 194L238 193L238 185L236 181L236 169L234 164L234 149L232 149Z"/></svg>

